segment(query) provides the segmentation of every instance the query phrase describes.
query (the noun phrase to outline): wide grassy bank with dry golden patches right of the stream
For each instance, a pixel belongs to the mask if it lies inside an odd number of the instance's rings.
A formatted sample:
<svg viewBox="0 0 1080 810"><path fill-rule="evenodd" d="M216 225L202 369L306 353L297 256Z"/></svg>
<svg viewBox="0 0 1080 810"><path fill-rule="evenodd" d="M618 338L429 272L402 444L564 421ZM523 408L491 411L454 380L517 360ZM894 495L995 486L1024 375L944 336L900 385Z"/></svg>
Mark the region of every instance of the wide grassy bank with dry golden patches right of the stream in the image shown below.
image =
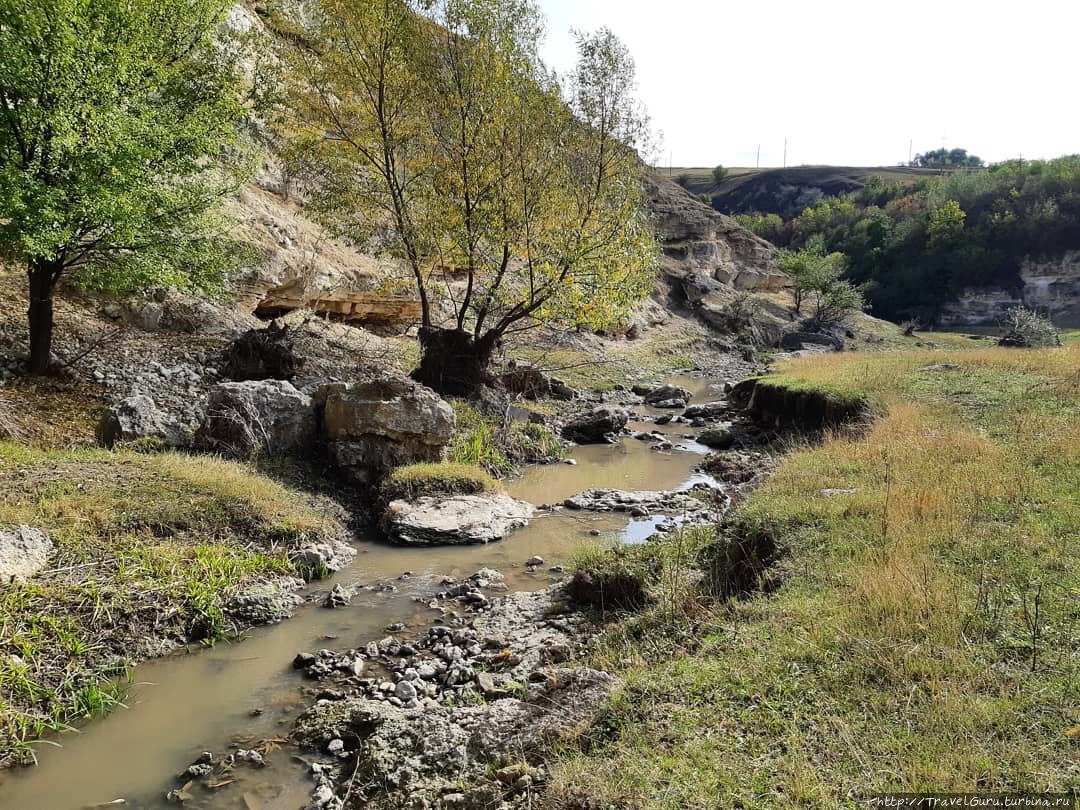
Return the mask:
<svg viewBox="0 0 1080 810"><path fill-rule="evenodd" d="M1078 368L1075 342L784 365L883 416L797 449L731 518L780 546L779 590L608 632L596 663L625 685L548 805L1080 789Z"/></svg>

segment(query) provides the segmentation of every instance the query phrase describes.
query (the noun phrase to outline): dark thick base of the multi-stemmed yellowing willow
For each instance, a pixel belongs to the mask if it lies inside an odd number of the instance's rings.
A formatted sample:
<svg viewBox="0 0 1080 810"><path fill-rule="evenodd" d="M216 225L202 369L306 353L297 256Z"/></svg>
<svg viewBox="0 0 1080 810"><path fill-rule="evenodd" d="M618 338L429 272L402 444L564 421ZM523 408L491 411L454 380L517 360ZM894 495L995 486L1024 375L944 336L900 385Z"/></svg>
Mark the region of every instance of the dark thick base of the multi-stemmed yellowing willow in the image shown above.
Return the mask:
<svg viewBox="0 0 1080 810"><path fill-rule="evenodd" d="M423 328L420 367L413 372L413 379L441 394L471 396L494 381L487 367L497 340L490 332L474 340L461 329Z"/></svg>

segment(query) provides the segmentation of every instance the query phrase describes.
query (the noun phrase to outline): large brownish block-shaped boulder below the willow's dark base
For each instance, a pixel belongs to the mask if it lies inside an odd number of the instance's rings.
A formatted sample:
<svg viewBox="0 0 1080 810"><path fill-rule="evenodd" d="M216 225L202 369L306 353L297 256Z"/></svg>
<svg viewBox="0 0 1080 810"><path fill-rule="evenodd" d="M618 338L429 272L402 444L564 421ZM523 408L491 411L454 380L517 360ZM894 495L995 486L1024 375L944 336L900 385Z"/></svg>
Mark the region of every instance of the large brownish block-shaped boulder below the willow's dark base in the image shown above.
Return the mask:
<svg viewBox="0 0 1080 810"><path fill-rule="evenodd" d="M370 482L417 461L438 461L456 426L454 408L413 380L383 377L324 386L323 434L350 477Z"/></svg>

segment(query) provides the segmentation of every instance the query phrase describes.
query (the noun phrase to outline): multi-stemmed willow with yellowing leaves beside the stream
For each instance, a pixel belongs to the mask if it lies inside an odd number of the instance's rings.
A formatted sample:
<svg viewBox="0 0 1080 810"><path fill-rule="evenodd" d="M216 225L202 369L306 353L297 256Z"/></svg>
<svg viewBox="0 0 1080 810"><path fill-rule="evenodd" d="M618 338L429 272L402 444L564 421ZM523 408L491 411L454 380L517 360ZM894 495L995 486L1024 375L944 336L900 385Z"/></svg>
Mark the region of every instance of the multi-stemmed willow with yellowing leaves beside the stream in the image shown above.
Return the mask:
<svg viewBox="0 0 1080 810"><path fill-rule="evenodd" d="M610 327L651 289L647 125L610 31L565 89L527 0L323 0L288 37L288 135L332 229L407 268L414 376L471 393L507 335Z"/></svg>

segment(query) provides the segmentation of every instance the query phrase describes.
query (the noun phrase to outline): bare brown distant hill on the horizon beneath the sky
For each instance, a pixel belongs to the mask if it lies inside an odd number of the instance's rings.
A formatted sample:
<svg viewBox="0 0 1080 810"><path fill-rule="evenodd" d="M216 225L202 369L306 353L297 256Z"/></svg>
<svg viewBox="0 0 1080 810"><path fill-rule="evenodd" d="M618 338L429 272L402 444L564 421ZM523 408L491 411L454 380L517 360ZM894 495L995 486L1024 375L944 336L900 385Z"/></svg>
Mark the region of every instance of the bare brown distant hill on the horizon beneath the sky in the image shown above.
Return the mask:
<svg viewBox="0 0 1080 810"><path fill-rule="evenodd" d="M826 197L858 191L867 178L890 183L915 181L942 174L935 168L907 166L792 166L789 168L730 168L719 184L712 168L672 168L672 178L687 191L712 198L721 214L779 214L788 219Z"/></svg>

